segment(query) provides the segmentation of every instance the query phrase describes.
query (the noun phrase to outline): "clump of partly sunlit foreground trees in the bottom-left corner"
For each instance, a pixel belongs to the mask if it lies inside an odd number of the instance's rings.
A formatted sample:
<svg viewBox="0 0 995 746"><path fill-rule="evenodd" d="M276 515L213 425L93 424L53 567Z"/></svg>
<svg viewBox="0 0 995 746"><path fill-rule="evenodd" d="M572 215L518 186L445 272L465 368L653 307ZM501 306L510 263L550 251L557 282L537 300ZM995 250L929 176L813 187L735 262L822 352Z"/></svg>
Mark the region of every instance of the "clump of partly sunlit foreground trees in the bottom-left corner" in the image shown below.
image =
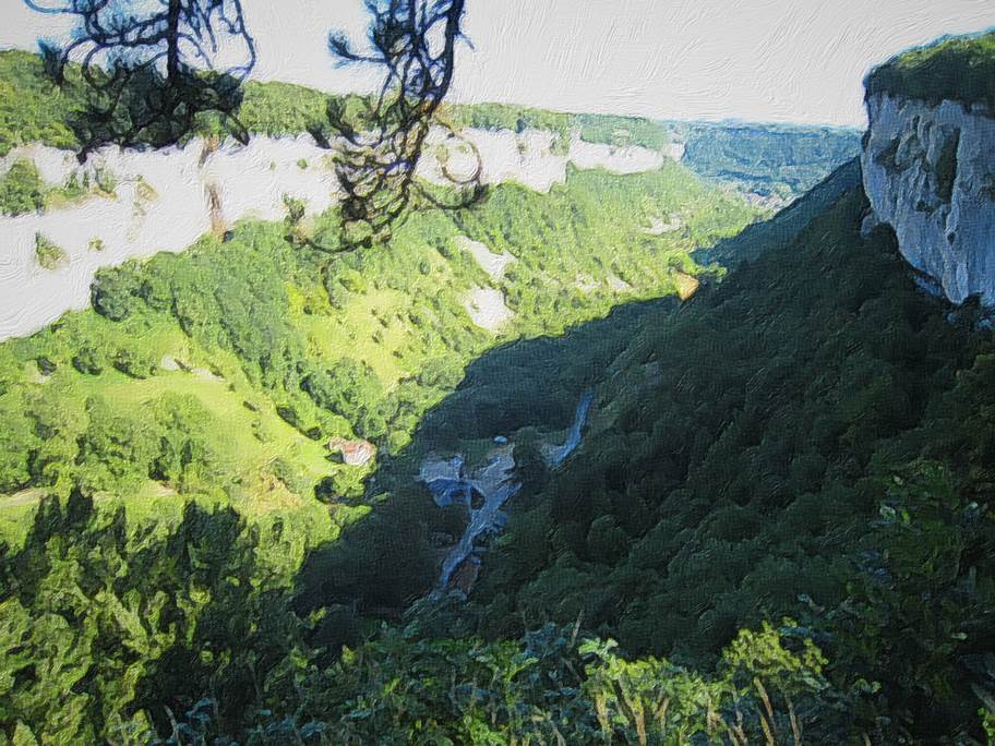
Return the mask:
<svg viewBox="0 0 995 746"><path fill-rule="evenodd" d="M149 715L168 730L163 706L191 688L239 710L292 647L297 622L256 587L260 537L233 512L191 504L172 527L127 524L73 492L43 503L22 550L0 552L0 723L14 743L15 727L46 744L142 743L129 733Z"/></svg>

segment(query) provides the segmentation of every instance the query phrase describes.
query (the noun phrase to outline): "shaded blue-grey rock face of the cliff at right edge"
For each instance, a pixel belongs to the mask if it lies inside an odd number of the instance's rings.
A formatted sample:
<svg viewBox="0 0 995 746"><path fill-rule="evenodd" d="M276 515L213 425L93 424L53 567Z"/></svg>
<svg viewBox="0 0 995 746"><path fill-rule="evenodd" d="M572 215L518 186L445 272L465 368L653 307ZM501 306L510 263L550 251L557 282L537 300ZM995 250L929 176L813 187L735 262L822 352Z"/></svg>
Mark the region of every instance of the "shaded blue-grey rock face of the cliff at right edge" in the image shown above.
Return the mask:
<svg viewBox="0 0 995 746"><path fill-rule="evenodd" d="M955 303L995 303L995 116L875 96L861 156L874 218Z"/></svg>

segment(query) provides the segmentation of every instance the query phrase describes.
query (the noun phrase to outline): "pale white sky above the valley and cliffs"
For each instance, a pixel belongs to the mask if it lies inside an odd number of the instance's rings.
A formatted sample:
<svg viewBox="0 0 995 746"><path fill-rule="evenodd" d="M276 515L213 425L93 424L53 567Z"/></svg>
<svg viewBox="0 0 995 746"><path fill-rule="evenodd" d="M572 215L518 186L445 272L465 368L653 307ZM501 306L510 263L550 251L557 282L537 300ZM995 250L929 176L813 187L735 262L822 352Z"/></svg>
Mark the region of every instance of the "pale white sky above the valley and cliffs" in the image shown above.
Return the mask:
<svg viewBox="0 0 995 746"><path fill-rule="evenodd" d="M327 32L363 25L360 0L242 0L255 76L355 89ZM0 0L0 46L64 33ZM467 0L453 96L661 118L865 123L875 63L944 34L995 26L995 0Z"/></svg>

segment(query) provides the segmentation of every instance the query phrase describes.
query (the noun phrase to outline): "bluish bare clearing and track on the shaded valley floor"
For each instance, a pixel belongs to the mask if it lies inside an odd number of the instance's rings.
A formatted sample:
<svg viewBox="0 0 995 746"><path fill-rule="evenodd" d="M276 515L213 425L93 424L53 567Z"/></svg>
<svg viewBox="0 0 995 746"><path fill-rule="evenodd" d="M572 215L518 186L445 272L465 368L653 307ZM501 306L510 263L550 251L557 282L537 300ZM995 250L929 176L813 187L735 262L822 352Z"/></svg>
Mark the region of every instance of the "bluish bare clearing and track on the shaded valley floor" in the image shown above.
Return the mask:
<svg viewBox="0 0 995 746"><path fill-rule="evenodd" d="M580 445L592 402L594 392L585 392L577 404L566 441L562 445L544 449L549 468L560 466ZM501 508L522 490L522 483L514 477L513 453L513 445L502 444L502 447L492 453L488 462L472 473L466 473L461 455L442 464L423 465L419 479L432 492L435 504L446 507L461 502L470 512L466 530L443 560L437 590L449 587L453 574L464 562L479 563L479 557L475 555L477 540L488 533L497 533L504 526L506 516ZM482 498L478 508L473 507L475 495Z"/></svg>

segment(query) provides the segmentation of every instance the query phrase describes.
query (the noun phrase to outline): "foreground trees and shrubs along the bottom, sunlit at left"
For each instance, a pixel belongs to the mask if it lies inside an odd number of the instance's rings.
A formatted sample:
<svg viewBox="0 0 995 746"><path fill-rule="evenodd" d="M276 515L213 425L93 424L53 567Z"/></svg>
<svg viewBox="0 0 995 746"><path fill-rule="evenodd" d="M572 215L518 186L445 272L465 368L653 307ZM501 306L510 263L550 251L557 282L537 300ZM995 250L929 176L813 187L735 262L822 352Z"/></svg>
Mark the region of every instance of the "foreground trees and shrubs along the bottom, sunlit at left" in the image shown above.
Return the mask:
<svg viewBox="0 0 995 746"><path fill-rule="evenodd" d="M166 530L125 524L74 492L43 504L21 550L0 548L0 723L15 744L156 732L185 744L746 743L844 724L827 718L842 699L824 657L789 619L740 633L706 675L628 660L576 627L441 638L455 599L432 600L332 660L304 641L311 623L287 594L259 587L256 546L286 546L280 530L195 505Z"/></svg>

